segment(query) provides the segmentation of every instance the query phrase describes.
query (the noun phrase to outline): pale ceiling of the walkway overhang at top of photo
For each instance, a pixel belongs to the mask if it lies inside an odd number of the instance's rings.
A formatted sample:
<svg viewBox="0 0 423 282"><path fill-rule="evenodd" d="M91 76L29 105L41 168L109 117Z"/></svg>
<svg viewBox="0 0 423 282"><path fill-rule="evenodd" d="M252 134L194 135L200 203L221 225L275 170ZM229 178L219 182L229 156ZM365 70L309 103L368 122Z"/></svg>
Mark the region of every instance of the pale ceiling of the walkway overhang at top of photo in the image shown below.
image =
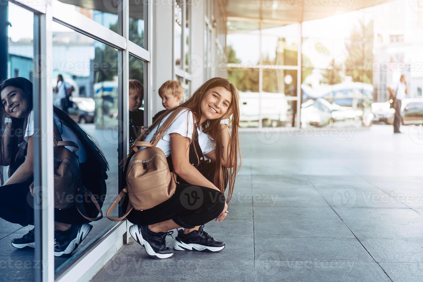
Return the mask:
<svg viewBox="0 0 423 282"><path fill-rule="evenodd" d="M227 0L227 15L304 22L390 2L391 0ZM408 3L408 1L407 1ZM405 5L405 4L404 4Z"/></svg>

